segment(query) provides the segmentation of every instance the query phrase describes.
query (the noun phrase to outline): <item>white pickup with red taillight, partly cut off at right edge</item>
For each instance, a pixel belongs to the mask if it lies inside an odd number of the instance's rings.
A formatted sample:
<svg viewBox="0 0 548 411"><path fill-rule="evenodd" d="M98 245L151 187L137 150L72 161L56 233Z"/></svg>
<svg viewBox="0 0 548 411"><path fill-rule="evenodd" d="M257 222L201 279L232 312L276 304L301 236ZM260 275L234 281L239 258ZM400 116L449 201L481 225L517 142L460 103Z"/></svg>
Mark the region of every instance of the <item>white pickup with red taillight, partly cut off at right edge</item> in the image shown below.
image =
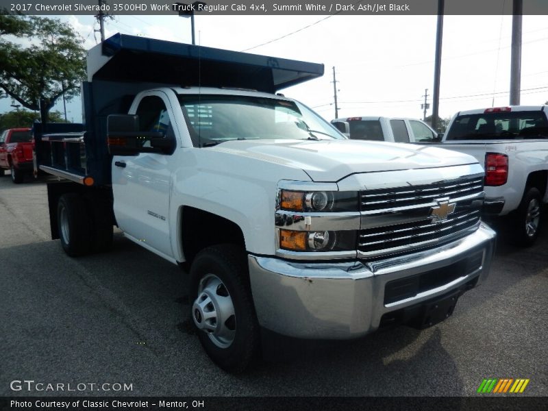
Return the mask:
<svg viewBox="0 0 548 411"><path fill-rule="evenodd" d="M458 112L442 138L443 147L484 164L484 213L508 215L510 239L519 245L533 244L548 202L547 110L518 105Z"/></svg>

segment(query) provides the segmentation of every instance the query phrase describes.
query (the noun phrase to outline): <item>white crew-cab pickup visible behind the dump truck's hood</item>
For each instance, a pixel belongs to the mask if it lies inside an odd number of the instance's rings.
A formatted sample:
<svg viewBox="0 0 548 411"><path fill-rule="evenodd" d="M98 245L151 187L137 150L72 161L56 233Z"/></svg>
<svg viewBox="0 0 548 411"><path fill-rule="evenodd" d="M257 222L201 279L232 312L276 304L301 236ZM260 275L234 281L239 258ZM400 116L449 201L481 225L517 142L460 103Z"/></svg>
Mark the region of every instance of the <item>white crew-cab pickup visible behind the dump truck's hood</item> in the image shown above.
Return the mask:
<svg viewBox="0 0 548 411"><path fill-rule="evenodd" d="M331 121L352 140L434 142L438 134L424 121L378 116L347 117Z"/></svg>

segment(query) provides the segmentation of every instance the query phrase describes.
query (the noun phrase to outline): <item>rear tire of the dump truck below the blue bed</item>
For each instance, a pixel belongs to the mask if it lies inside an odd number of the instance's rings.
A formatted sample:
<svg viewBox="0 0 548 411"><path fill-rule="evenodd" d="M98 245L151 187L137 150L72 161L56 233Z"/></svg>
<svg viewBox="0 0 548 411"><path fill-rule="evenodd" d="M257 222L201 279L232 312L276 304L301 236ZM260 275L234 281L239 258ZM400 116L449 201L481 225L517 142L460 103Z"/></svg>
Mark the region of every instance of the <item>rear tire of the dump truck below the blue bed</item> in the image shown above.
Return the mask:
<svg viewBox="0 0 548 411"><path fill-rule="evenodd" d="M71 257L79 257L90 252L90 215L81 196L68 193L60 197L57 205L57 223L65 253Z"/></svg>

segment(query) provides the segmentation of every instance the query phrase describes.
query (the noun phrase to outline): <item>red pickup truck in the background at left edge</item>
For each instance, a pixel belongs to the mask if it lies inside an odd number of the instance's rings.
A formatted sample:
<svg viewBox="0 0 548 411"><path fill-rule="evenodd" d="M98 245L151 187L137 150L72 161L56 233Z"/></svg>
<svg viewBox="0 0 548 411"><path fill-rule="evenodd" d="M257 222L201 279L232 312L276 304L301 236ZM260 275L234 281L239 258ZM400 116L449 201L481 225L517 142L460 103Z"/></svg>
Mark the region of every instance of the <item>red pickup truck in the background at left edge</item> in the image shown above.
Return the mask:
<svg viewBox="0 0 548 411"><path fill-rule="evenodd" d="M0 134L0 176L11 170L12 182L22 183L25 173L33 170L33 145L30 128L7 129Z"/></svg>

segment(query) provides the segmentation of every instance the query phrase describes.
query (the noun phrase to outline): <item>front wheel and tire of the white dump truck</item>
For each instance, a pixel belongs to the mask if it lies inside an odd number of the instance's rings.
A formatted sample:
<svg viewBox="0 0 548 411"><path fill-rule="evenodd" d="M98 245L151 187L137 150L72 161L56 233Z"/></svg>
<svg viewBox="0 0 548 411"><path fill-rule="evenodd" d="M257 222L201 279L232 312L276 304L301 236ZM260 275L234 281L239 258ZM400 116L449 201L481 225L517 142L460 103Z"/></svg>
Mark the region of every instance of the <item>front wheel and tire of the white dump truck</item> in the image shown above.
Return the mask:
<svg viewBox="0 0 548 411"><path fill-rule="evenodd" d="M245 371L260 347L246 257L241 247L216 245L190 267L190 316L208 356L229 373Z"/></svg>

